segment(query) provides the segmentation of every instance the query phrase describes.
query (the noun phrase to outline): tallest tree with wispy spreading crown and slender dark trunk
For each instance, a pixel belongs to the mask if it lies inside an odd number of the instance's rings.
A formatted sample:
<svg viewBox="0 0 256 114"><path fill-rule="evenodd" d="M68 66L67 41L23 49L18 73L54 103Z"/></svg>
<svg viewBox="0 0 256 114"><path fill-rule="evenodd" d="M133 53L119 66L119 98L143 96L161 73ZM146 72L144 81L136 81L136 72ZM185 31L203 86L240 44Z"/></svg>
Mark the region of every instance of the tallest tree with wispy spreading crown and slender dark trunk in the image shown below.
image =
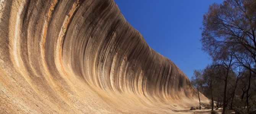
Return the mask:
<svg viewBox="0 0 256 114"><path fill-rule="evenodd" d="M212 4L203 16L202 45L203 50L211 55L226 69L224 76L223 113L227 106L226 92L228 73L234 59L241 66L256 73L256 0L226 0L222 4ZM241 60L242 54L254 61L248 66Z"/></svg>

